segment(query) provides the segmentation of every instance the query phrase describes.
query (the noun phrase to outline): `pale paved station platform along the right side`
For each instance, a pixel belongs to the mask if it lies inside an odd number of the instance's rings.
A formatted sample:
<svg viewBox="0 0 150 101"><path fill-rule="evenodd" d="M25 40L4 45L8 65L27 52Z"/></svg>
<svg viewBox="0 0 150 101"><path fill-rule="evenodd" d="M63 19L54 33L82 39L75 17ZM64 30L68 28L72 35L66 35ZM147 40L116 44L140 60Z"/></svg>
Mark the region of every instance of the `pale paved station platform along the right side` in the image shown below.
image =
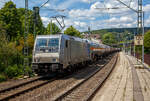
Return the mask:
<svg viewBox="0 0 150 101"><path fill-rule="evenodd" d="M93 101L150 101L150 72L120 52L116 67Z"/></svg>

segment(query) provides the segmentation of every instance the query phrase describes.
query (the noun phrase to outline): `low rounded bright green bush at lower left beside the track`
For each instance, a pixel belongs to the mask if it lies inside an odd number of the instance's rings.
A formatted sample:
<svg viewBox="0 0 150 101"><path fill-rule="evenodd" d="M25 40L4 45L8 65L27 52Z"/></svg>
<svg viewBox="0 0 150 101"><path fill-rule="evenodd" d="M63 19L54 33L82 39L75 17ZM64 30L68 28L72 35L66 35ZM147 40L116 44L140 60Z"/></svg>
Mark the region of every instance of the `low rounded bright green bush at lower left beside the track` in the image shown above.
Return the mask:
<svg viewBox="0 0 150 101"><path fill-rule="evenodd" d="M8 78L14 78L22 74L23 74L22 68L18 68L17 65L8 66L8 68L6 68L5 70L5 75L7 75Z"/></svg>

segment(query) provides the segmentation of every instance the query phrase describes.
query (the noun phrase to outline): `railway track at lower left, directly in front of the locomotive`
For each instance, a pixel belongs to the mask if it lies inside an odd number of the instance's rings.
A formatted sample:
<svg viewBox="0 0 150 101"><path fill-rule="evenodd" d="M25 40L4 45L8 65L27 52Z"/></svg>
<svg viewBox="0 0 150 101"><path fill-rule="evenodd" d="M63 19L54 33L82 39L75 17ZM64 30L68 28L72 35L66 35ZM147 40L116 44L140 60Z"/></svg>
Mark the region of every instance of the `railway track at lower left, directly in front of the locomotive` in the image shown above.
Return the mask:
<svg viewBox="0 0 150 101"><path fill-rule="evenodd" d="M52 78L52 76L37 77L35 79L29 80L26 82L22 82L15 86L2 89L2 90L0 90L0 101L9 100L20 94L31 91L37 87L40 87L40 86L43 86L43 85L49 83L49 82L52 82L55 79L56 78Z"/></svg>

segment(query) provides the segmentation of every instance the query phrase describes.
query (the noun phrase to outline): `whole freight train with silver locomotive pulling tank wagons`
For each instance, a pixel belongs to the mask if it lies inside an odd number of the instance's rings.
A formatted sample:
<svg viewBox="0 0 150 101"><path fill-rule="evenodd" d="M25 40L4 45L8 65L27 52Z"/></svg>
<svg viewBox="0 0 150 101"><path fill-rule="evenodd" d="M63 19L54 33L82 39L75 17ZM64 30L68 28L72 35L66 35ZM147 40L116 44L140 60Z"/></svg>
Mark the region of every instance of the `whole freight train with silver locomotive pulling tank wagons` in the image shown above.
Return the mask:
<svg viewBox="0 0 150 101"><path fill-rule="evenodd" d="M34 43L32 68L35 73L69 70L117 50L65 34L38 35Z"/></svg>

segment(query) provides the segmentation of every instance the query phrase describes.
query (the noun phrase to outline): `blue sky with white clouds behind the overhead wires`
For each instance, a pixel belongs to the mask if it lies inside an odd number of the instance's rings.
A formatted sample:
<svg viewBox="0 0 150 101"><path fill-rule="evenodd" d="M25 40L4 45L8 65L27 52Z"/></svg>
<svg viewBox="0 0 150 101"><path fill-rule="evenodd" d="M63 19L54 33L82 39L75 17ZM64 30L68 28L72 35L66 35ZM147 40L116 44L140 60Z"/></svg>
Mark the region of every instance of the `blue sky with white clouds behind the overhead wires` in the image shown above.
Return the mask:
<svg viewBox="0 0 150 101"><path fill-rule="evenodd" d="M7 1L9 0L0 0L0 8L3 7ZM24 7L25 0L11 1L13 1L18 8ZM29 0L29 9L32 9L34 6L40 6L46 1L47 0ZM137 9L138 0L121 1ZM102 9L112 7L119 7L121 9ZM65 11L58 12L48 9L65 9ZM150 26L150 0L143 0L143 9L145 11L145 26ZM125 8L117 0L49 0L40 10L40 15L45 26L50 22L51 16L60 14L66 16L66 28L73 25L80 31L86 31L88 26L90 26L92 30L137 26L137 14ZM54 19L53 22L56 23Z"/></svg>

